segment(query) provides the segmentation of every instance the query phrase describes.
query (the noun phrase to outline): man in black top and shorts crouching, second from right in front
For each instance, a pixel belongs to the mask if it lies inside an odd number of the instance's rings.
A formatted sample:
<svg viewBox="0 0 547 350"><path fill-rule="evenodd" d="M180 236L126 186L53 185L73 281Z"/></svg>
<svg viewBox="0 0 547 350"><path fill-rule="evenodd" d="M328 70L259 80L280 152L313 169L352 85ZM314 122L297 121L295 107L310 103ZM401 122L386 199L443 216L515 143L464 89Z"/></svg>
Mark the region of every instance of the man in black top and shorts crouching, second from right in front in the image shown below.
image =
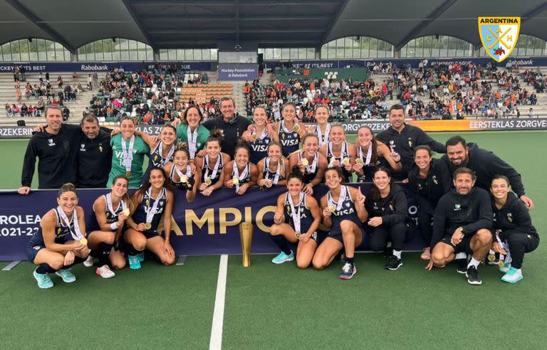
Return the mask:
<svg viewBox="0 0 547 350"><path fill-rule="evenodd" d="M492 208L488 192L474 187L475 181L475 174L469 168L454 171L455 189L442 196L435 208L431 261L427 269L431 270L433 265L444 267L459 259L457 271L466 274L469 284L481 285L477 268L492 244ZM469 251L473 257L467 263Z"/></svg>

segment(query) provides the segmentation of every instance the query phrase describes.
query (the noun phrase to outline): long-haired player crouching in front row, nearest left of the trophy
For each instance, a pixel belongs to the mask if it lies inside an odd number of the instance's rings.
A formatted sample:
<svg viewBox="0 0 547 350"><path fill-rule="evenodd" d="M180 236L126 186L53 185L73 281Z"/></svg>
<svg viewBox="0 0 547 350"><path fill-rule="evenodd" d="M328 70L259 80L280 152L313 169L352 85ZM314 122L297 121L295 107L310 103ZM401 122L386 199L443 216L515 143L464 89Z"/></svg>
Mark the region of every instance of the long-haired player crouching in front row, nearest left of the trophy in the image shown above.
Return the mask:
<svg viewBox="0 0 547 350"><path fill-rule="evenodd" d="M125 221L129 228L124 233L124 239L127 242L129 267L134 270L140 269L145 249L157 255L162 264L174 264L175 255L170 243L174 196L172 191L165 188L167 181L162 168L152 168L148 182L132 195L134 209ZM165 238L157 232L162 216Z"/></svg>

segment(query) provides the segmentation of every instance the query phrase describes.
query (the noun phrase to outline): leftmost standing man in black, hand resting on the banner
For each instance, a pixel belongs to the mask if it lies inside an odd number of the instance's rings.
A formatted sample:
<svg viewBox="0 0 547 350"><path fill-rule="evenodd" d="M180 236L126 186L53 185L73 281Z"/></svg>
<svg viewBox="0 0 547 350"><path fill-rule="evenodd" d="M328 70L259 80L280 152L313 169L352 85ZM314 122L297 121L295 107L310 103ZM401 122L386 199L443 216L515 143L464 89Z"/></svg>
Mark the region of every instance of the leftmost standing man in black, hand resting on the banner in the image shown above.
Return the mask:
<svg viewBox="0 0 547 350"><path fill-rule="evenodd" d="M63 111L58 106L46 107L47 127L32 135L26 147L19 193L31 191L36 157L38 157L38 189L59 189L67 182L76 183L76 157L73 147L80 140L78 125L63 124Z"/></svg>

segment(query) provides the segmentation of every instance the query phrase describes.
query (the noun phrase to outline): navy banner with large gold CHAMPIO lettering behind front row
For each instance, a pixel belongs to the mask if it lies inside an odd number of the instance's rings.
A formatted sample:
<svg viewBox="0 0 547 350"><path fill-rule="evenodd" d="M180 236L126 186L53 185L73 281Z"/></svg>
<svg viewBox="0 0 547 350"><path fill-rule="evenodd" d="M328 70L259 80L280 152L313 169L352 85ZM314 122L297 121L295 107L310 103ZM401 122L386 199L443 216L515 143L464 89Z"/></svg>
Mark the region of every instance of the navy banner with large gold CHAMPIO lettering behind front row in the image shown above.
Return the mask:
<svg viewBox="0 0 547 350"><path fill-rule="evenodd" d="M361 186L363 193L370 188L370 184L351 185ZM177 255L239 254L239 223L252 221L251 253L278 253L268 232L273 224L277 197L285 191L286 188L262 191L254 187L244 196L237 196L233 189L220 189L209 197L198 195L193 203L187 203L184 192L175 189L171 244ZM106 189L78 191L78 205L86 217L95 199L107 192ZM326 187L317 186L314 192L313 196L319 199L326 193ZM28 196L0 193L0 261L26 260L26 244L38 232L41 216L57 206L57 193L53 190L32 191ZM410 193L407 200L412 231L405 250L421 250L422 238L413 223L417 207ZM162 232L162 226L158 230ZM368 250L368 241L365 235L362 250Z"/></svg>

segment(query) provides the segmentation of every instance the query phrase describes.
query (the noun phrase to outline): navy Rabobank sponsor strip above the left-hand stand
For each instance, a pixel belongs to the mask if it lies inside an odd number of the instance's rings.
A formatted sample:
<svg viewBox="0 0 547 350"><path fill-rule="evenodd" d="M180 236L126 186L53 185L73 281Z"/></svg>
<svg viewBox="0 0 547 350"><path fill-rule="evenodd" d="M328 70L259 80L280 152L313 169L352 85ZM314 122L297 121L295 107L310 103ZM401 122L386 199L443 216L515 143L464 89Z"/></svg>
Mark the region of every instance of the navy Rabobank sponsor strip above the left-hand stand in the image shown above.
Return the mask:
<svg viewBox="0 0 547 350"><path fill-rule="evenodd" d="M212 70L213 62L159 62L162 65L175 64L183 70ZM122 67L131 71L153 69L155 62L30 62L0 63L0 73L13 72L14 66L23 65L27 73L31 72L103 72Z"/></svg>

